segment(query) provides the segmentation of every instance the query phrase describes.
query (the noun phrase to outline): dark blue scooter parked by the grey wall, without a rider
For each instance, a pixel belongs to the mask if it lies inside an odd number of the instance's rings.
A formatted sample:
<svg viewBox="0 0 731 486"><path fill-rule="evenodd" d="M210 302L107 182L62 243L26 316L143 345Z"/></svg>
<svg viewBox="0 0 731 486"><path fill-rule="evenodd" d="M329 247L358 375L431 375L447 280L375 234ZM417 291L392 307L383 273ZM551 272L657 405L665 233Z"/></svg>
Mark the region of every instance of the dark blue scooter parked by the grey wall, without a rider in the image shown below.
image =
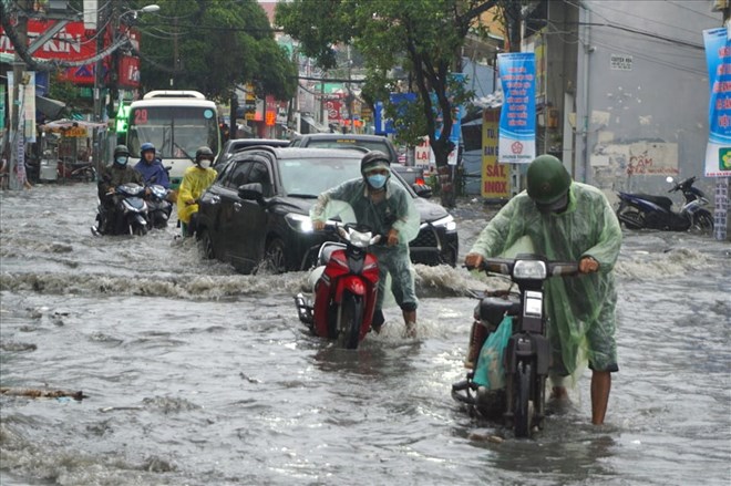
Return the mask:
<svg viewBox="0 0 731 486"><path fill-rule="evenodd" d="M668 177L667 180L673 183L672 177ZM713 216L703 208L708 205L708 199L702 190L693 187L696 180L694 176L689 177L668 190L668 193L678 190L682 193L686 204L680 213L672 210L672 199L666 196L618 193L617 217L628 229L712 232Z"/></svg>

